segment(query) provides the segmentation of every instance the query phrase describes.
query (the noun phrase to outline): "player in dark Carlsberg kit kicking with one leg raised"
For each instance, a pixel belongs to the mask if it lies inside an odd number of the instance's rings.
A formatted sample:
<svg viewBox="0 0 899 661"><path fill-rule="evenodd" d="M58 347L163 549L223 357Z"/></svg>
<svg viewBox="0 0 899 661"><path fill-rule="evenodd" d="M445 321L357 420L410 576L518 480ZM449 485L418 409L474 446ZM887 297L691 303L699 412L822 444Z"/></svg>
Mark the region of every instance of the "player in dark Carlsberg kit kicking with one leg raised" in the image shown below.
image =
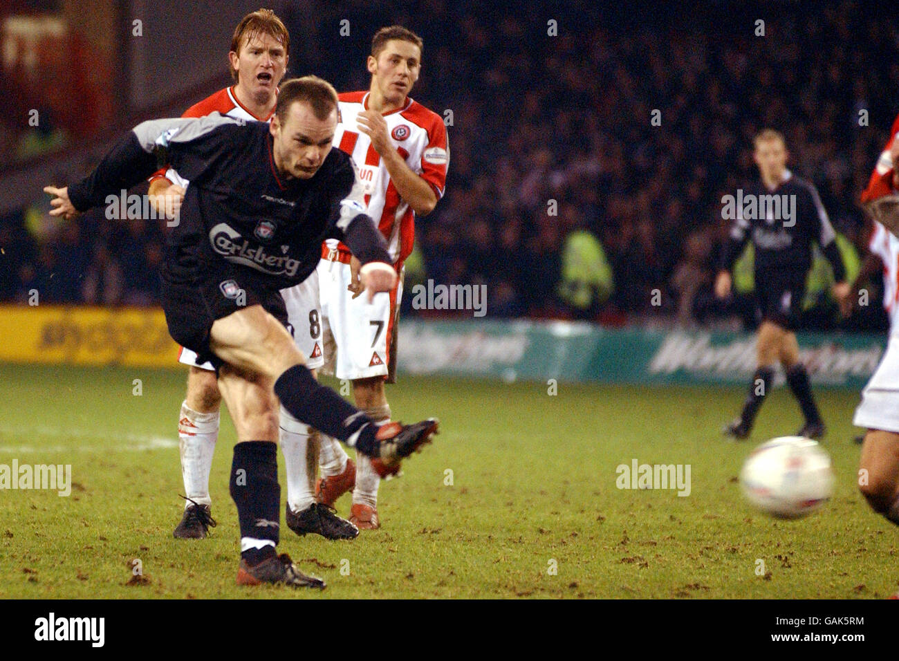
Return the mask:
<svg viewBox="0 0 899 661"><path fill-rule="evenodd" d="M44 189L54 196L51 213L71 218L159 163L191 182L166 237L163 308L175 342L216 367L235 421L230 492L240 522L239 585L325 585L275 551L279 399L299 421L387 462L420 449L437 429L433 418L378 427L316 382L285 327L280 290L316 269L326 238L340 239L359 258L369 298L396 285L384 237L364 213L356 167L331 147L337 113L334 87L298 78L281 85L271 125L218 112L145 121L83 181ZM247 437L247 429L260 428L265 438Z"/></svg>

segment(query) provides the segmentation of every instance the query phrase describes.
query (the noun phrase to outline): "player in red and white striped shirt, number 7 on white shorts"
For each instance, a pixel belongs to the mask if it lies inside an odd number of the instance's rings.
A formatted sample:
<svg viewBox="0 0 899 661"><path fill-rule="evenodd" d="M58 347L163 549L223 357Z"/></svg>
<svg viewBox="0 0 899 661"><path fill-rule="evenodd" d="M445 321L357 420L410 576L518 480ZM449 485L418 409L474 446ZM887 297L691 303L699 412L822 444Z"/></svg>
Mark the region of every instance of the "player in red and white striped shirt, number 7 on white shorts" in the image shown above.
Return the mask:
<svg viewBox="0 0 899 661"><path fill-rule="evenodd" d="M422 51L422 40L404 27L392 25L374 35L367 59L369 89L339 95L341 120L333 143L359 167L367 213L378 221L400 275L396 289L370 303L358 298L358 263L335 241L322 246L318 268L325 370L352 380L356 406L378 424L387 424L391 416L384 383L394 377L403 263L412 252L414 219L430 213L443 196L449 165L441 116L409 97L421 72ZM379 479L399 467L361 454L357 461L354 466L340 443L323 438L323 478L316 496L333 505L353 488L350 521L360 529L378 528Z"/></svg>

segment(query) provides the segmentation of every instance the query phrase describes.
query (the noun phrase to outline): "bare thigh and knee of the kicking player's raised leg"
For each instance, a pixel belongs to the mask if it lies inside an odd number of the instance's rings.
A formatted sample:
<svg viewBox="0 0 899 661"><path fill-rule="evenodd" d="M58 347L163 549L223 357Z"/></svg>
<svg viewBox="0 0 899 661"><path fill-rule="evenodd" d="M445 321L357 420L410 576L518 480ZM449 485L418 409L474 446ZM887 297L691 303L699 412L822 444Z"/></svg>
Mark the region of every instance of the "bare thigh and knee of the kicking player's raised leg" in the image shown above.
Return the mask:
<svg viewBox="0 0 899 661"><path fill-rule="evenodd" d="M261 305L216 319L209 331L209 346L222 361L272 379L306 362L287 328Z"/></svg>

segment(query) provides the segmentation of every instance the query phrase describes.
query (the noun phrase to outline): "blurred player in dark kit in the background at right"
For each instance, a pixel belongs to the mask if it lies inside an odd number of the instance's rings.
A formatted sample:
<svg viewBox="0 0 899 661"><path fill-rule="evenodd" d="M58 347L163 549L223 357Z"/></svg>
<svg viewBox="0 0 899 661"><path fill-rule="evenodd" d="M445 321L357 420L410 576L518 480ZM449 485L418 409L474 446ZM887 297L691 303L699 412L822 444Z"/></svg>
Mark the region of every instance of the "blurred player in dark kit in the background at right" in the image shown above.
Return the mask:
<svg viewBox="0 0 899 661"><path fill-rule="evenodd" d="M755 290L761 325L758 332L756 371L738 418L725 426L725 434L744 439L768 394L779 362L799 402L806 423L797 435L819 439L826 432L814 403L806 368L799 362L796 326L817 242L833 268L833 295L849 298L850 285L818 192L812 183L787 169L788 151L776 130L762 130L754 139L754 160L761 180L737 196L734 226L725 245L715 293L725 299L731 292L731 269L746 241L755 247ZM741 199L742 198L742 199Z"/></svg>

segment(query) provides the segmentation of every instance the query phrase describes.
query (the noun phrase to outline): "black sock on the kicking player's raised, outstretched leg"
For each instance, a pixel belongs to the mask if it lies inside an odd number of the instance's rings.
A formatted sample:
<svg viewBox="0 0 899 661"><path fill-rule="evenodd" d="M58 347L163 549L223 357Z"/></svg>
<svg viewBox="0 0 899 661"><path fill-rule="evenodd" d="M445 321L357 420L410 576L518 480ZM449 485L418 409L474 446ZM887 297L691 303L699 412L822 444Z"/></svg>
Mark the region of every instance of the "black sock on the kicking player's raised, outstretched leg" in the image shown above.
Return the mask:
<svg viewBox="0 0 899 661"><path fill-rule="evenodd" d="M334 390L316 381L305 365L294 365L275 381L281 406L300 422L340 439L362 454L378 448L378 426Z"/></svg>

